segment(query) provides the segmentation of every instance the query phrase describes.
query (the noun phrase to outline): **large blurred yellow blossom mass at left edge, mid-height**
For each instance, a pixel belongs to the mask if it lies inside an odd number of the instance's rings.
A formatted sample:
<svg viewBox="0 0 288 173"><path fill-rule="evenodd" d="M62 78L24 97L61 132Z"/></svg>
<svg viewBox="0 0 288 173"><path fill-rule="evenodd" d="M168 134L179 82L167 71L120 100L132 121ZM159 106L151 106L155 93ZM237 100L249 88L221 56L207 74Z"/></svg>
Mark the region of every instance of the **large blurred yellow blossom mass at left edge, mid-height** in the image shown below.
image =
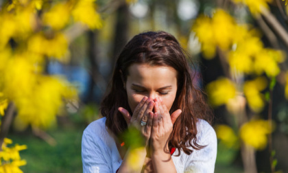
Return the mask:
<svg viewBox="0 0 288 173"><path fill-rule="evenodd" d="M59 108L64 104L63 97L76 96L75 89L69 87L64 79L37 73L39 68L27 54L14 55L0 71L3 73L3 94L18 109L15 123L19 130L29 124L48 128L55 123Z"/></svg>

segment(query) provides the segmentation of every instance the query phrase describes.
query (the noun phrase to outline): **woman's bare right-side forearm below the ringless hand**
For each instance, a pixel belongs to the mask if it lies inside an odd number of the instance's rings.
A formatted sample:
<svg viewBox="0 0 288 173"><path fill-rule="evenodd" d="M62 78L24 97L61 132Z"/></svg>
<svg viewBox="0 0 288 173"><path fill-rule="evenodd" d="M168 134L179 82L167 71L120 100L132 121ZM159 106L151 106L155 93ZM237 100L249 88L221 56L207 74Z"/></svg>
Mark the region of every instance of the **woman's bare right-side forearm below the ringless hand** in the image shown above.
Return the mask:
<svg viewBox="0 0 288 173"><path fill-rule="evenodd" d="M169 152L154 152L152 163L155 172L177 172Z"/></svg>

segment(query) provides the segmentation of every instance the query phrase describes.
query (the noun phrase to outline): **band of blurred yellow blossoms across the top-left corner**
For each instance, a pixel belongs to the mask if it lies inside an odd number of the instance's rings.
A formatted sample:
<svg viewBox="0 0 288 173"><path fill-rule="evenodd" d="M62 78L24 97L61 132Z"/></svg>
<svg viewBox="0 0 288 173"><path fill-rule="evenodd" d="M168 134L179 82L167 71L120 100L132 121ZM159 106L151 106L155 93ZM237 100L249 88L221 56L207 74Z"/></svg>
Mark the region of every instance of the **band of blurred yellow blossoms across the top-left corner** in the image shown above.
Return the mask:
<svg viewBox="0 0 288 173"><path fill-rule="evenodd" d="M53 30L60 30L73 22L80 22L91 29L99 29L102 26L94 0L67 0L56 3L52 1L51 4L51 8L47 8L49 5L46 5L45 9L43 0L14 0L12 3L4 4L0 10L0 49L7 45L10 38L17 42L25 41L41 27L50 26ZM38 10L43 10L41 16Z"/></svg>

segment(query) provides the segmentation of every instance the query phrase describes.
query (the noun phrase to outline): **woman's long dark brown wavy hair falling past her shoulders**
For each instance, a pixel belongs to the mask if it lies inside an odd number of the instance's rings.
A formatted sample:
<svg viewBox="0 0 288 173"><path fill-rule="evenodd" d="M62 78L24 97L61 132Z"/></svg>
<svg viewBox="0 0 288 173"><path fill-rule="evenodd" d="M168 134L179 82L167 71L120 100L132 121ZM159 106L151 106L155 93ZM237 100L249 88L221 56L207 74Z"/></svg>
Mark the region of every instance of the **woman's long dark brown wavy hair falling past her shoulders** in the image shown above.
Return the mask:
<svg viewBox="0 0 288 173"><path fill-rule="evenodd" d="M125 119L118 108L127 108L131 113L127 93L123 88L121 72L125 81L130 65L148 63L149 65L173 67L178 73L178 90L170 114L178 108L182 110L182 113L173 124L169 147L177 148L179 151L182 149L186 154L193 152L188 148L189 146L195 150L204 147L196 142L196 122L198 119L205 119L211 123L211 109L206 104L202 91L195 89L192 82L194 76L184 52L176 38L167 32L141 33L134 36L125 45L116 62L110 82L110 91L101 102L101 114L106 117L106 126L114 135L119 137L121 132L127 129Z"/></svg>

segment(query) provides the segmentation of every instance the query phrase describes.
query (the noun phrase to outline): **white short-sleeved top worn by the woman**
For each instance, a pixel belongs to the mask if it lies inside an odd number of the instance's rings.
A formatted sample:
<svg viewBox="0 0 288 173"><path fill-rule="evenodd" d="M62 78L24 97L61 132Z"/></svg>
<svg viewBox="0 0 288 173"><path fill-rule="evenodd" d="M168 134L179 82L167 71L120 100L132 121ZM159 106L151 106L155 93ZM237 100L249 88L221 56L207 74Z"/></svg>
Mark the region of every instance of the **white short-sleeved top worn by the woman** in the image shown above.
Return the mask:
<svg viewBox="0 0 288 173"><path fill-rule="evenodd" d="M115 140L106 130L105 122L106 117L103 117L89 124L84 130L82 136L84 173L115 173L122 163ZM206 147L193 150L190 155L182 150L179 157L176 157L178 150L172 154L177 172L214 172L217 138L214 129L202 119L197 122L197 143Z"/></svg>

